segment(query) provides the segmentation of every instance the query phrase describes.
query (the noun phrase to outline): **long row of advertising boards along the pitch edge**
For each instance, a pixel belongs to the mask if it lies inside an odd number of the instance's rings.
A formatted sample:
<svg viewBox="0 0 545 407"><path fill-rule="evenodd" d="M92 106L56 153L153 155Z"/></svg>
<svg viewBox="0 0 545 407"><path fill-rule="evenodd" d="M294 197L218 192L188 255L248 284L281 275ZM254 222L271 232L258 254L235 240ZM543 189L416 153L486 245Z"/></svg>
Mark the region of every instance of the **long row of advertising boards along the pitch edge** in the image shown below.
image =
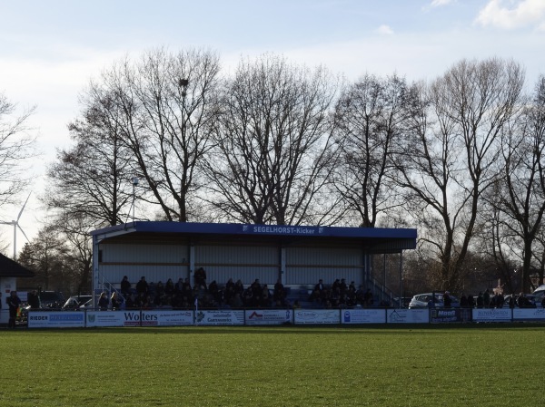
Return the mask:
<svg viewBox="0 0 545 407"><path fill-rule="evenodd" d="M30 311L29 328L544 322L545 308Z"/></svg>

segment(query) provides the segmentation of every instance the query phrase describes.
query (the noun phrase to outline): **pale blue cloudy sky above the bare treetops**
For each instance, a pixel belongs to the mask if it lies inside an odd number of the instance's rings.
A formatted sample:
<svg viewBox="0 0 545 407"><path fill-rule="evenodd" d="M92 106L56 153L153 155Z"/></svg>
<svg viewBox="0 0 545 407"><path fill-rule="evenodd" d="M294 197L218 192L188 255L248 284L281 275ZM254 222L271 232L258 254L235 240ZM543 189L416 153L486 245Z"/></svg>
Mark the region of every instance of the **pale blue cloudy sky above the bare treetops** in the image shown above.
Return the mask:
<svg viewBox="0 0 545 407"><path fill-rule="evenodd" d="M242 56L279 53L349 80L398 73L410 81L499 56L526 68L529 88L545 74L545 0L0 0L0 15L0 92L20 109L36 106L43 151L20 220L31 238L45 217L36 199L45 164L69 143L78 92L126 54L206 48L229 70ZM0 208L0 220L19 208ZM5 241L12 232L0 227ZM17 248L24 243L18 237Z"/></svg>

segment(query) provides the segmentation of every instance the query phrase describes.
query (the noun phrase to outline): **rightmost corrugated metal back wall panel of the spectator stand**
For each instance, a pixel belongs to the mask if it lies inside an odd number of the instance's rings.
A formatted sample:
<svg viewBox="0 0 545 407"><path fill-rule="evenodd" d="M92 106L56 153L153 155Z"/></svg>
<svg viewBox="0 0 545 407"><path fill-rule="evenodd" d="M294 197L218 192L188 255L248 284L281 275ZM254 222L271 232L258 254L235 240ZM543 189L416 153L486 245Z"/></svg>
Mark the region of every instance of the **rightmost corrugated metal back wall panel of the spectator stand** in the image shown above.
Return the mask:
<svg viewBox="0 0 545 407"><path fill-rule="evenodd" d="M286 249L286 284L331 285L336 278L345 278L359 286L363 281L363 253L353 248L288 247Z"/></svg>

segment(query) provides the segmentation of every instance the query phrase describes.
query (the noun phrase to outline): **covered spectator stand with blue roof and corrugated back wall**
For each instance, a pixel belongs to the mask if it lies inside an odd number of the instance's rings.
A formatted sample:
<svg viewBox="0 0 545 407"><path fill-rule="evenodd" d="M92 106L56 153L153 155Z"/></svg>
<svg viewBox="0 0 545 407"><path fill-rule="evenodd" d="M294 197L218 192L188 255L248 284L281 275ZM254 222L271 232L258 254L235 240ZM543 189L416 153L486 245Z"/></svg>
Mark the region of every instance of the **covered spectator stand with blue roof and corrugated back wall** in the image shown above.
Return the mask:
<svg viewBox="0 0 545 407"><path fill-rule="evenodd" d="M132 222L94 230L94 292L118 288L124 276L163 284L203 267L207 281L229 278L244 285L258 278L271 288L330 284L345 278L371 280L374 255L402 254L416 247L412 228L338 228L180 222ZM402 258L400 256L400 258ZM400 261L400 271L402 262Z"/></svg>

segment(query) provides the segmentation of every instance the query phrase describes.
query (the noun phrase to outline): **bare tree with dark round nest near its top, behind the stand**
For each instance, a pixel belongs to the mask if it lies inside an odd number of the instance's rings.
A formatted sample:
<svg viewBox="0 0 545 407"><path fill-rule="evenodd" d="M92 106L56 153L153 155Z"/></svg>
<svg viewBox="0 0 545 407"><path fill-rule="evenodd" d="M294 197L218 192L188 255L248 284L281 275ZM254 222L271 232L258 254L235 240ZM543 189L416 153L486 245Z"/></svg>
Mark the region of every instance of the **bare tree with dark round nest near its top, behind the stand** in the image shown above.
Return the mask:
<svg viewBox="0 0 545 407"><path fill-rule="evenodd" d="M142 188L166 220L185 222L201 187L199 166L211 148L219 59L215 53L163 49L126 59L103 74L114 118L132 151Z"/></svg>

